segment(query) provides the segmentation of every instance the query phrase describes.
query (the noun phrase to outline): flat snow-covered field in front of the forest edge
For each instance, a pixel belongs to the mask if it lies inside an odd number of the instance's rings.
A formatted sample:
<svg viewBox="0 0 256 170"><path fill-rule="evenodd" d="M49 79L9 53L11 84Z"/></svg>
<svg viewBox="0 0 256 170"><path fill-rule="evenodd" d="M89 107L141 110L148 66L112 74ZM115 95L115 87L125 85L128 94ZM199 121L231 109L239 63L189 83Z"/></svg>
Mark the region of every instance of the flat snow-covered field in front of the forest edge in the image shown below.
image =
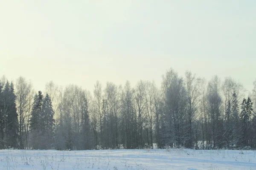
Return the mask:
<svg viewBox="0 0 256 170"><path fill-rule="evenodd" d="M256 170L256 151L0 150L0 170Z"/></svg>

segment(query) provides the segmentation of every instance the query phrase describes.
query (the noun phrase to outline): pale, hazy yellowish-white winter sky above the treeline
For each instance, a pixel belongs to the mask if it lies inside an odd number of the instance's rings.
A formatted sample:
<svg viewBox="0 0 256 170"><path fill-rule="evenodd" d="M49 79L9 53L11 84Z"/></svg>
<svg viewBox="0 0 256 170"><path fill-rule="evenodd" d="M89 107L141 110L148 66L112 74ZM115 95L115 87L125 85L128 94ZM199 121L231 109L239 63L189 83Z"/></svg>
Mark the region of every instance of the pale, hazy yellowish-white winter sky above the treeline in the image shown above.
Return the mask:
<svg viewBox="0 0 256 170"><path fill-rule="evenodd" d="M169 68L256 79L256 0L0 0L0 75L93 90Z"/></svg>

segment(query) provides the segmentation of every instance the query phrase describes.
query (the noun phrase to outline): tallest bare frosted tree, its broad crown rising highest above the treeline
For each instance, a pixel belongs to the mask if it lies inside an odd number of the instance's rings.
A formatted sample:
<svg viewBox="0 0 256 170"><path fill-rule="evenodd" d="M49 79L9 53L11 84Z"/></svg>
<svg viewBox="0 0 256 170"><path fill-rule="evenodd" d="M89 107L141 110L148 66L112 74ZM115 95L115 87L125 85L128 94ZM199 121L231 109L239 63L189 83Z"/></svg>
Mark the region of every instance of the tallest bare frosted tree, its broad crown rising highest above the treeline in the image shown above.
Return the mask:
<svg viewBox="0 0 256 170"><path fill-rule="evenodd" d="M166 144L171 147L184 146L186 131L186 89L177 72L170 69L162 82L164 110L163 121L166 130L163 134Z"/></svg>

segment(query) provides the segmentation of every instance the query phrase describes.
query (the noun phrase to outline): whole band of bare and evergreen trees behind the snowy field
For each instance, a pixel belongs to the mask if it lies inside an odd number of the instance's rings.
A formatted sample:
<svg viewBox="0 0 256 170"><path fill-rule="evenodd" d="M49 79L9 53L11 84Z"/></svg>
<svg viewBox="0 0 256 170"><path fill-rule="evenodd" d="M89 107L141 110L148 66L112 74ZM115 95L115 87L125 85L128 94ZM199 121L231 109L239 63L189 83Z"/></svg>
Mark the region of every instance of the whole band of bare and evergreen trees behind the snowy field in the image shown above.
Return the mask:
<svg viewBox="0 0 256 170"><path fill-rule="evenodd" d="M256 149L256 81L248 93L230 77L171 68L160 87L97 81L90 92L48 82L41 90L24 77L0 80L0 149Z"/></svg>

